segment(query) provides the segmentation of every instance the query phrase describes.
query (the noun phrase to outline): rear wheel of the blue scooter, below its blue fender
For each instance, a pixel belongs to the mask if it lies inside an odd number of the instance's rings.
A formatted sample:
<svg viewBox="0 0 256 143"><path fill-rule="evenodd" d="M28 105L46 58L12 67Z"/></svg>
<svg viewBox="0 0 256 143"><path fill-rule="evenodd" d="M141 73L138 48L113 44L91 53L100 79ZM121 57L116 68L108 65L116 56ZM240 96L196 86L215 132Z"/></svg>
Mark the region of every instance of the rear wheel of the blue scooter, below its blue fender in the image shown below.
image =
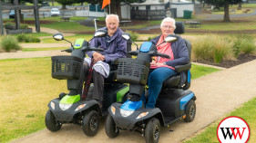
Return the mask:
<svg viewBox="0 0 256 143"><path fill-rule="evenodd" d="M195 119L196 116L196 103L195 100L189 100L189 103L186 105L186 118L184 119L186 122L191 122Z"/></svg>

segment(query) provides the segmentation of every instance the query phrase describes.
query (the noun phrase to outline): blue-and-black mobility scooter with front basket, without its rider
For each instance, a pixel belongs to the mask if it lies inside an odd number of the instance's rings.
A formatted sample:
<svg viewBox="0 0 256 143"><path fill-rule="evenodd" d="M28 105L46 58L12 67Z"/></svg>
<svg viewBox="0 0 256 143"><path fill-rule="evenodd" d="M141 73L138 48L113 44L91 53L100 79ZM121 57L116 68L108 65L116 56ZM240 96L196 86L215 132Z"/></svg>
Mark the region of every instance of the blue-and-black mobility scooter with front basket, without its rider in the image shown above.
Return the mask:
<svg viewBox="0 0 256 143"><path fill-rule="evenodd" d="M175 33L183 33L183 23L176 23ZM128 33L123 37L129 40ZM164 43L175 43L178 40L177 35L170 34L166 37ZM186 41L189 57L191 44ZM156 108L144 108L140 95L145 92L148 94L146 84L148 81L149 62L152 56L161 56L169 58L169 55L157 52L157 46L152 43L142 43L139 50L129 52L136 55L136 59L118 59L117 80L129 83L130 99L121 103L113 103L108 108L108 117L106 119L105 130L109 138L115 138L119 130L138 131L145 136L147 143L156 143L159 141L160 127L184 119L187 122L192 121L196 114L196 96L189 91L191 63L175 67L179 74L170 77L163 83L156 103ZM183 74L183 73L185 74ZM183 75L181 75L183 74ZM180 85L180 76L186 78L185 84Z"/></svg>

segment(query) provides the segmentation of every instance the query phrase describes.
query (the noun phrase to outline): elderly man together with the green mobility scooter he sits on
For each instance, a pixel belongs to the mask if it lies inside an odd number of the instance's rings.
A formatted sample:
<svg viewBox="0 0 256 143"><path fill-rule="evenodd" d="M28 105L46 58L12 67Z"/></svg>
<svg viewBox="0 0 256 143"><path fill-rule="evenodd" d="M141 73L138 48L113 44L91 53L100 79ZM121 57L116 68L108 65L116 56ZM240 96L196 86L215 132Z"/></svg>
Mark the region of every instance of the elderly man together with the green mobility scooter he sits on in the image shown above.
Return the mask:
<svg viewBox="0 0 256 143"><path fill-rule="evenodd" d="M88 100L89 98L87 99L87 97L94 97L96 93L95 86L89 86L90 79L87 78L87 81L85 81L87 92L84 91L82 93L85 80L83 62L87 52L93 55L92 62L89 62L91 65L89 71L93 71L92 65L95 62L97 64L97 62L104 61L102 64L108 66L108 63L110 64L112 60L118 57L125 57L127 42L121 38L122 31L118 28L117 15L108 15L107 27L104 28L105 30L97 30L94 37L90 40L92 44L82 38L77 39L74 45L69 42L71 47L63 52L71 52L71 56L52 57L52 77L57 80L67 80L67 90L69 93L60 93L59 98L48 103L49 110L46 112L45 123L46 128L50 131L59 130L62 124L73 123L80 125L87 136L95 136L99 127L99 118L106 116L108 114L108 107L113 102L122 101L123 97L127 94L128 85L115 81L116 71L110 71L106 79L95 71L87 73L87 77L91 76L91 74L95 74L93 76L100 76L100 78L96 77L96 80L93 80L97 83L97 79L101 80L100 84L97 84L97 88L101 90L104 88L104 92L100 91L101 94L97 94L97 98L93 98L96 100ZM106 38L107 35L109 36L108 39ZM56 41L67 41L61 33L56 33L54 39ZM102 70L103 68L100 67L98 69ZM105 84L103 84L104 80L106 80ZM97 100L102 101L103 94L105 97L103 107L101 107L101 102Z"/></svg>

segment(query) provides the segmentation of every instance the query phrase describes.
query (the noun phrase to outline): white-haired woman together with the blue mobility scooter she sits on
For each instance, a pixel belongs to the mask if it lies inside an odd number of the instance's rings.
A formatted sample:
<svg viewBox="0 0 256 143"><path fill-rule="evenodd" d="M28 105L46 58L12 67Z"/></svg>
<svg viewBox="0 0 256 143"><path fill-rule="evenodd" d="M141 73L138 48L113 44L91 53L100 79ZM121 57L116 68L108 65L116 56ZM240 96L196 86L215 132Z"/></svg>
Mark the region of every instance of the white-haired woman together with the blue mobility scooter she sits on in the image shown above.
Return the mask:
<svg viewBox="0 0 256 143"><path fill-rule="evenodd" d="M108 108L105 124L108 137L117 137L119 130L123 129L138 131L145 136L146 142L156 143L160 126L169 126L179 119L187 122L194 119L196 97L188 90L191 44L173 34L174 24L179 27L175 33L184 33L183 23L166 18L161 24L159 37L142 43L137 51L128 52L137 55L136 59L118 59L117 80L129 83L131 98L123 104L113 103ZM130 38L128 33L123 37ZM157 58L152 62L152 57ZM149 74L150 65L155 70Z"/></svg>

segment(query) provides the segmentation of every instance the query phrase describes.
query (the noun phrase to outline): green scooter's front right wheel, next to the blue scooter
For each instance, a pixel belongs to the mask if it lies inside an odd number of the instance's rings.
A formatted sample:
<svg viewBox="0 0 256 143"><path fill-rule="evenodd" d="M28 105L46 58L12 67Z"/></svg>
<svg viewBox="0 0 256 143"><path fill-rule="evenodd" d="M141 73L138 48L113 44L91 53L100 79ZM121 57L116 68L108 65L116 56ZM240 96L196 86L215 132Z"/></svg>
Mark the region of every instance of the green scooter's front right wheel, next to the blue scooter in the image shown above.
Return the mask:
<svg viewBox="0 0 256 143"><path fill-rule="evenodd" d="M87 112L82 122L82 129L87 136L95 136L99 127L99 115L96 110Z"/></svg>

